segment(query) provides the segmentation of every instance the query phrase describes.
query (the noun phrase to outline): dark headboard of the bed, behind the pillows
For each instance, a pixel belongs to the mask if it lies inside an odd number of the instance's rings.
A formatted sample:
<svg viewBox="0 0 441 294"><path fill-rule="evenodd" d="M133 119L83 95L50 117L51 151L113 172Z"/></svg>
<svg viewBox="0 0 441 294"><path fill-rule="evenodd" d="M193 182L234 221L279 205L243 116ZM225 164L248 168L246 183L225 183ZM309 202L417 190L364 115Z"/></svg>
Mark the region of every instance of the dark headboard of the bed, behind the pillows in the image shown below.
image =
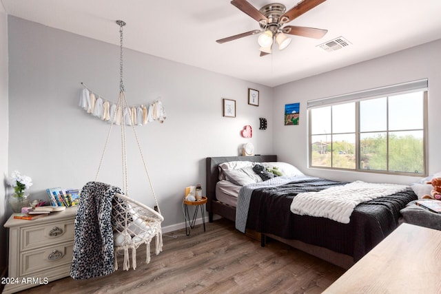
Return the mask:
<svg viewBox="0 0 441 294"><path fill-rule="evenodd" d="M256 155L256 156L222 156L207 157L207 181L205 187L207 189L207 211L209 220L212 222L213 214L218 214L229 220L235 220L236 209L227 204L216 201L216 182L219 181L218 165L229 161L251 161L251 162L271 162L277 161L276 155Z"/></svg>

